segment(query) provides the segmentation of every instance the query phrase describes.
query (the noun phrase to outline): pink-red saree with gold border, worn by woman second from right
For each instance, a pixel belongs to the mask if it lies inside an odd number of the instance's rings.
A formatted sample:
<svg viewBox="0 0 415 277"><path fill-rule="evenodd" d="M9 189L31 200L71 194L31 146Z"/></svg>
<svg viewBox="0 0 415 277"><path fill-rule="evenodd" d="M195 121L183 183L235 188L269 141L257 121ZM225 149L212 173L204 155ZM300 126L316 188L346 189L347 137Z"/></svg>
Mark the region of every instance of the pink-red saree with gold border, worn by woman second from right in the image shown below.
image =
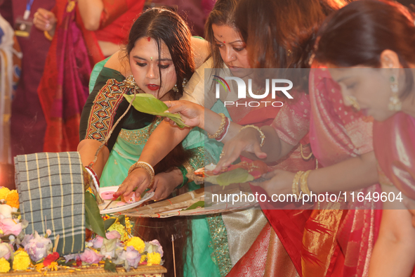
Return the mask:
<svg viewBox="0 0 415 277"><path fill-rule="evenodd" d="M372 150L373 119L343 105L340 88L328 70L310 72L310 103L310 143L320 165L334 165ZM379 190L374 185L360 191L366 195ZM320 203L322 209L329 206ZM381 219L381 210L374 209L381 205L365 200L347 208L312 211L303 236L303 276L367 276ZM316 224L320 231L312 228ZM305 259L305 253L319 262Z"/></svg>

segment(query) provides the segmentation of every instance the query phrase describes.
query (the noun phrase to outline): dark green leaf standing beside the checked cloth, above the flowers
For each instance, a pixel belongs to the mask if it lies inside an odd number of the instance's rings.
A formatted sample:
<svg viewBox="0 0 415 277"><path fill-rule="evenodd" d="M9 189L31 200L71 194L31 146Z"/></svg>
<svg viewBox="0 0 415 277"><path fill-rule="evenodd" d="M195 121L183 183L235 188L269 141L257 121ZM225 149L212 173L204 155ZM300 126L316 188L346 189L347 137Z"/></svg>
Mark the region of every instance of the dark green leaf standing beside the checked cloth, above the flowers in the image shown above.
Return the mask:
<svg viewBox="0 0 415 277"><path fill-rule="evenodd" d="M105 238L104 221L100 209L88 191L85 192L85 224L86 228Z"/></svg>

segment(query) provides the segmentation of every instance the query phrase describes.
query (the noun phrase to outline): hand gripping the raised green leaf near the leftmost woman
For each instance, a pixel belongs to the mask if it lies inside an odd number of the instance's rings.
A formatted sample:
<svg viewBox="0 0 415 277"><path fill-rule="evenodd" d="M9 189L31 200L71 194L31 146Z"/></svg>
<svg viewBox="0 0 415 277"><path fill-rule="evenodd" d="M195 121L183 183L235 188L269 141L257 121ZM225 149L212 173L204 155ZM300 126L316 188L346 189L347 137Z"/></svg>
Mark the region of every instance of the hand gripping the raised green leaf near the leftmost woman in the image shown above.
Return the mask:
<svg viewBox="0 0 415 277"><path fill-rule="evenodd" d="M187 126L204 129L204 107L201 105L185 100L165 101L164 103L169 107L166 112L179 113ZM164 120L172 125L176 124L169 117L164 117Z"/></svg>

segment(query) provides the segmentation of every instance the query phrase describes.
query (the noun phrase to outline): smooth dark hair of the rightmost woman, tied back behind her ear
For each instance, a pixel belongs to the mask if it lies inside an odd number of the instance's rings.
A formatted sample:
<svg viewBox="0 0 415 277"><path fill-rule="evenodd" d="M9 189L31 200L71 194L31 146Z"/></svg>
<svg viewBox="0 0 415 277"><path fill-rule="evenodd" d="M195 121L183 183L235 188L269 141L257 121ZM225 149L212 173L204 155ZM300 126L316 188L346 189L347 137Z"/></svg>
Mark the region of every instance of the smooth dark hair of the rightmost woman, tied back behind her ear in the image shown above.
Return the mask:
<svg viewBox="0 0 415 277"><path fill-rule="evenodd" d="M395 51L406 68L406 97L414 86L409 63L415 63L414 16L395 2L356 1L334 13L319 32L315 59L338 67L380 67L381 53Z"/></svg>

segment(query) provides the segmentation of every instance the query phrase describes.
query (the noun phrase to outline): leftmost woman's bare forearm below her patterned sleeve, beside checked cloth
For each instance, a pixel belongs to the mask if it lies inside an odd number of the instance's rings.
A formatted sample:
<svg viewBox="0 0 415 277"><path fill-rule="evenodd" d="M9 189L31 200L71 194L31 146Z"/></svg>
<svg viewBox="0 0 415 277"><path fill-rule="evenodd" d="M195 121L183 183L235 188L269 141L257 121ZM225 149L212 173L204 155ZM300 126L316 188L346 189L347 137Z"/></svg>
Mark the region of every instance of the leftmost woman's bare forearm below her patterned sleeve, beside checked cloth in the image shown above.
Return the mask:
<svg viewBox="0 0 415 277"><path fill-rule="evenodd" d="M78 152L79 155L81 155L82 165L89 165L93 161L95 158L95 153L100 145L100 141L95 141L93 139L84 139L78 144ZM100 177L103 173L105 163L107 163L109 156L110 151L108 150L107 146L103 146L103 148L100 150L100 153L98 153L98 159L93 165L93 170L98 175L98 177Z"/></svg>

